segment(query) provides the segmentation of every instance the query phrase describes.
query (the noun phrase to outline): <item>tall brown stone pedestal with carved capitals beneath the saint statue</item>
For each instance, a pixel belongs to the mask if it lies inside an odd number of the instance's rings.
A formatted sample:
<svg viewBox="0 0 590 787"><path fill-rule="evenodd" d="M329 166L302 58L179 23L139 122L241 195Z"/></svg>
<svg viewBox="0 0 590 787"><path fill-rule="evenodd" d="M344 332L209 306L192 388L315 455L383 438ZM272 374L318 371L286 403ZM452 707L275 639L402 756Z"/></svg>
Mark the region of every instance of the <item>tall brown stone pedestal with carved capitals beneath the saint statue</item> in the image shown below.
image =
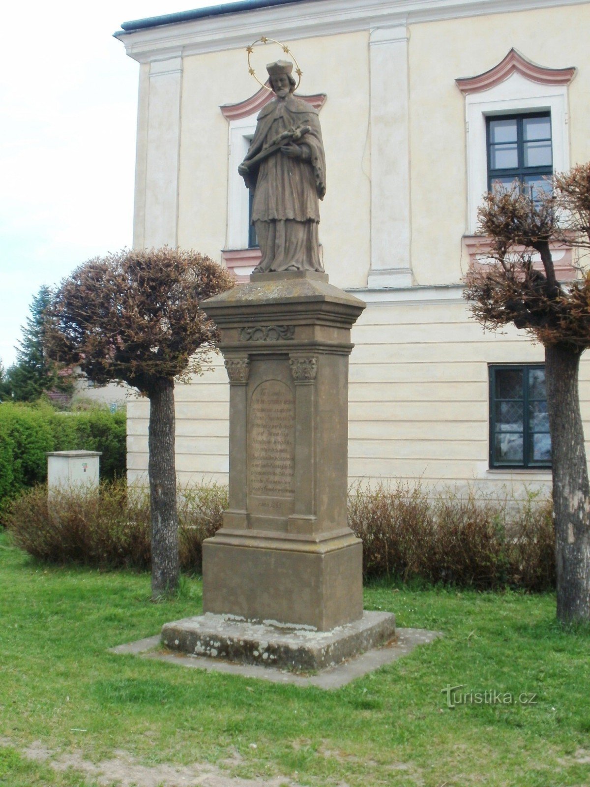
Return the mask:
<svg viewBox="0 0 590 787"><path fill-rule="evenodd" d="M230 382L229 508L203 546L205 612L322 631L363 614L347 487L350 329L364 306L303 271L201 303Z"/></svg>

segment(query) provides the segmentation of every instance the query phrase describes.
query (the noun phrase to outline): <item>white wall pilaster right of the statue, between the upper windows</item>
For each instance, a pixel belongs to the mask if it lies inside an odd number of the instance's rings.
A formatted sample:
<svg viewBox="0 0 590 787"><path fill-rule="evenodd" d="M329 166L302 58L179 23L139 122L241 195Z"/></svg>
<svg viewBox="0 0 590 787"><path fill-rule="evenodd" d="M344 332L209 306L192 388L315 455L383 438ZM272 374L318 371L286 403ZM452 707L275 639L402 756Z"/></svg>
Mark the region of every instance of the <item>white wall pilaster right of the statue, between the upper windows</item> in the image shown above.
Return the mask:
<svg viewBox="0 0 590 787"><path fill-rule="evenodd" d="M371 271L369 287L412 284L409 89L405 25L371 31Z"/></svg>

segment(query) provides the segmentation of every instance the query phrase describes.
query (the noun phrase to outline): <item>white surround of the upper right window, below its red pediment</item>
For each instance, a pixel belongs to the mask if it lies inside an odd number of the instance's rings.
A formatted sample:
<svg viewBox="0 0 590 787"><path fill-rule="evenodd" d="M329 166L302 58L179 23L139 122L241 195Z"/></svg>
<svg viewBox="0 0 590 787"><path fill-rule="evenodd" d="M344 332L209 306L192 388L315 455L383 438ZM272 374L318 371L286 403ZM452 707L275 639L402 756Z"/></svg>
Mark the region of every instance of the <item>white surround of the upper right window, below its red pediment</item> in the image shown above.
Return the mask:
<svg viewBox="0 0 590 787"><path fill-rule="evenodd" d="M537 111L551 113L553 172L563 172L570 168L567 85L544 85L513 72L487 91L466 95L468 235L476 234L478 207L488 190L486 118Z"/></svg>

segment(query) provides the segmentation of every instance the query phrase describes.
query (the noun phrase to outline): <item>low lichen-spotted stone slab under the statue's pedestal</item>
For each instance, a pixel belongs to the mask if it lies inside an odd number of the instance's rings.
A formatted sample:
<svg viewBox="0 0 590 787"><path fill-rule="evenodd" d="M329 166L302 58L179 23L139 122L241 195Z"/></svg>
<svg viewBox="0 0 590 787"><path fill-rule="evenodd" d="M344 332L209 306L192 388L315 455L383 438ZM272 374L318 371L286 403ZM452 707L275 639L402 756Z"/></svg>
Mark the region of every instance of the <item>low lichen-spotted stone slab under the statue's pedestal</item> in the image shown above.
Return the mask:
<svg viewBox="0 0 590 787"><path fill-rule="evenodd" d="M395 634L396 616L391 612L364 611L360 620L331 631L206 613L165 623L162 643L193 656L309 672L385 645Z"/></svg>

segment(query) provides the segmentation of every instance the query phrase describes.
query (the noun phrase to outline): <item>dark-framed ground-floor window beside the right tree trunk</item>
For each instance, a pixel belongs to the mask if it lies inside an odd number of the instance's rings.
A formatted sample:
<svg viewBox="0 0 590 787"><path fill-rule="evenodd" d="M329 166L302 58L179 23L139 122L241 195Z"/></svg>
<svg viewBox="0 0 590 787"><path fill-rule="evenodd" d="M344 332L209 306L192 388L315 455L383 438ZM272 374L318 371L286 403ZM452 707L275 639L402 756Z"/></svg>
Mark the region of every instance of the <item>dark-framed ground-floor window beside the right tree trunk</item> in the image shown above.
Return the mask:
<svg viewBox="0 0 590 787"><path fill-rule="evenodd" d="M544 366L489 367L489 466L551 467Z"/></svg>

